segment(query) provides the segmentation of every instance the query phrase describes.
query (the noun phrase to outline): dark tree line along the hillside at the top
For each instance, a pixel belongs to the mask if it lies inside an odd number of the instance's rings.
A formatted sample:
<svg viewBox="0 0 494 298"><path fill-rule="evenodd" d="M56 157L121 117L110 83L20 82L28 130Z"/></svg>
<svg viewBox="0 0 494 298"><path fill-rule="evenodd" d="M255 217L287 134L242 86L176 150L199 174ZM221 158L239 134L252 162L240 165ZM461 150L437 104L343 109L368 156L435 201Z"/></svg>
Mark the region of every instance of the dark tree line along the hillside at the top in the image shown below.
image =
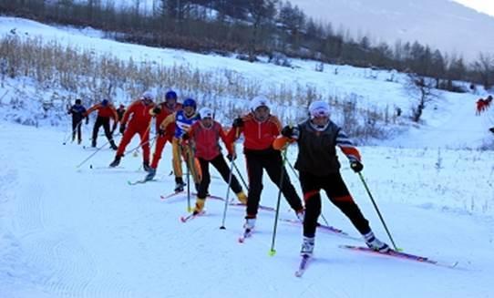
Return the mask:
<svg viewBox="0 0 494 298"><path fill-rule="evenodd" d="M432 77L436 87L462 91L454 80L494 85L494 56L479 53L467 63L416 42L373 45L331 23L316 22L297 5L281 0L11 0L0 12L72 26L92 26L121 41L218 53L256 61L259 55L299 57L356 67L396 69ZM285 60L286 61L286 60ZM290 63L283 63L290 66Z"/></svg>

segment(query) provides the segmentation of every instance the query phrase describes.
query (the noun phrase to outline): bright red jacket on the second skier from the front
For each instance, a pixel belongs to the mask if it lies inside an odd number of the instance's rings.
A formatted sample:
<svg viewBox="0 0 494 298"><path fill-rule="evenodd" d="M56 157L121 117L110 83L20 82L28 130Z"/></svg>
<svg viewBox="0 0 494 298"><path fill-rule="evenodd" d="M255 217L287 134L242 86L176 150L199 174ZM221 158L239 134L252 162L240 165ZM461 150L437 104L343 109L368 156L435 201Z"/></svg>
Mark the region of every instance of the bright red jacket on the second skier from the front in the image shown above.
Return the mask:
<svg viewBox="0 0 494 298"><path fill-rule="evenodd" d="M282 130L282 123L273 115L270 115L264 122L257 121L252 113L242 117L243 127L239 128L239 134L236 135L236 128L230 129L228 139L233 142L243 133L243 148L251 150L264 150L272 148L274 139L278 137Z"/></svg>

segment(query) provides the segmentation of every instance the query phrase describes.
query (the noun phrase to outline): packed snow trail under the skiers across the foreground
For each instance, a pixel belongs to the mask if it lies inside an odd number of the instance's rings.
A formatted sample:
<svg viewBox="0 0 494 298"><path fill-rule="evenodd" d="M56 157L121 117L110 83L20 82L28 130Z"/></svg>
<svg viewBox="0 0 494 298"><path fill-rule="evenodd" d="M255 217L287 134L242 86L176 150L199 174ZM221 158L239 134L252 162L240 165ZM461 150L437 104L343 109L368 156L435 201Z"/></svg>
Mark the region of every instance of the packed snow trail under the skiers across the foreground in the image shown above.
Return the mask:
<svg viewBox="0 0 494 298"><path fill-rule="evenodd" d="M448 206L447 199L438 200L434 190L427 187L423 190L429 191L427 198L416 198L413 190L402 184L386 183L391 179L389 171L381 171L377 179L369 181L369 187L376 191L376 200L398 245L407 252L459 261L458 270L341 250L338 245L363 243L318 231L314 260L304 277L297 279L293 271L300 262L302 228L281 221L277 253L268 256L273 229L271 211L260 211L255 237L244 245L235 241L242 232L243 209L229 209L226 230L220 230L221 200L207 200L207 213L200 220L187 224L178 220L186 212L185 197L160 200L160 193L169 193L173 188L173 177L164 174L170 172L170 149L165 149L157 175L159 182L129 186L127 180L138 180L145 175L139 171L140 156L125 157L123 169L111 170L104 167L114 153L102 151L89 162L101 169L90 170L87 165L76 170L77 162L89 152L73 144L62 146L63 136L59 131L0 122L0 135L0 292L3 297L321 297L327 294L357 297L366 293L380 297L486 297L494 294L490 216L470 215L453 208L441 211L434 203ZM363 154L368 168L364 173L369 176L376 175L378 165L386 162L404 167L400 161L404 155L407 158L403 162L408 162L409 167L424 169L422 176L436 173L411 162L418 163L421 159L414 155L418 154L416 151L363 148ZM492 158L492 154L482 155L479 162ZM243 164L239 167L244 169ZM445 167L441 174L448 183L448 175L457 173L448 171L446 161ZM345 169L343 173L376 234L386 240L386 233L355 174ZM417 183L413 175L409 179L413 180L412 185ZM264 185L262 204L273 206L277 190L270 181L266 180ZM221 180L212 180L210 191L222 195L226 185ZM402 193L389 198L390 191ZM430 204L417 204L422 200ZM452 200L450 206L455 204ZM327 200L324 207L330 224L357 236ZM288 209L283 202L283 217L294 219ZM492 210L487 211L492 214Z"/></svg>

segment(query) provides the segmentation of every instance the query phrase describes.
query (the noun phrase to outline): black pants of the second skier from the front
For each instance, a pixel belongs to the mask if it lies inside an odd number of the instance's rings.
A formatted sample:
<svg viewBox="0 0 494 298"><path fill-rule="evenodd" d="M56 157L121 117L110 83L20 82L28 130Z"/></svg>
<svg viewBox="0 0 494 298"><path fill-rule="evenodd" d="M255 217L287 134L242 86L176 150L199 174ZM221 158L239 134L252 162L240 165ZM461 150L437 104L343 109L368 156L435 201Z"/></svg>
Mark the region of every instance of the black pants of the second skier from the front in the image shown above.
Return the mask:
<svg viewBox="0 0 494 298"><path fill-rule="evenodd" d="M245 151L247 172L249 175L249 195L247 199L247 218L255 218L259 209L262 192L262 170L266 170L269 178L282 190L283 196L294 211L304 209L288 173L284 169L282 154L278 150L268 149L260 152ZM282 178L283 172L283 181ZM275 200L276 198L274 198Z"/></svg>

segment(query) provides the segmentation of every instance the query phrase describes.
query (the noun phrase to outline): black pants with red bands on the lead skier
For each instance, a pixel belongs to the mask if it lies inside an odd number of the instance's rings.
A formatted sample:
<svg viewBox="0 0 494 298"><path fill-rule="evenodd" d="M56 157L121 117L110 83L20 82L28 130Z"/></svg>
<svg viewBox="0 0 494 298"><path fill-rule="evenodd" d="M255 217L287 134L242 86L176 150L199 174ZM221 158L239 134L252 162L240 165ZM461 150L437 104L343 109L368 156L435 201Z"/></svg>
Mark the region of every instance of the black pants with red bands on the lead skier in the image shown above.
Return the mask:
<svg viewBox="0 0 494 298"><path fill-rule="evenodd" d="M314 237L317 218L321 214L321 195L323 189L329 200L352 221L361 234L370 231L369 222L355 204L339 172L327 176L314 176L307 172L300 173L300 184L304 192L305 219L304 236Z"/></svg>

